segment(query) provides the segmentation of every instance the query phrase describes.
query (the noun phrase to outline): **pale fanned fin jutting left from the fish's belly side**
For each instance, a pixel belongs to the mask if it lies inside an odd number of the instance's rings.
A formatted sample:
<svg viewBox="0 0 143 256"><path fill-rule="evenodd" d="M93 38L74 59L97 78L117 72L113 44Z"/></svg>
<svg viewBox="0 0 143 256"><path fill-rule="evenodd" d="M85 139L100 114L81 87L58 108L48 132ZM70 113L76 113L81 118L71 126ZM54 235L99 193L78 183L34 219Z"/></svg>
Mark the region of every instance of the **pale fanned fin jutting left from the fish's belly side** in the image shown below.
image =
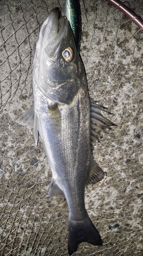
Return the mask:
<svg viewBox="0 0 143 256"><path fill-rule="evenodd" d="M31 106L22 116L20 116L16 122L22 125L27 125L28 128L32 128L34 126L34 105Z"/></svg>

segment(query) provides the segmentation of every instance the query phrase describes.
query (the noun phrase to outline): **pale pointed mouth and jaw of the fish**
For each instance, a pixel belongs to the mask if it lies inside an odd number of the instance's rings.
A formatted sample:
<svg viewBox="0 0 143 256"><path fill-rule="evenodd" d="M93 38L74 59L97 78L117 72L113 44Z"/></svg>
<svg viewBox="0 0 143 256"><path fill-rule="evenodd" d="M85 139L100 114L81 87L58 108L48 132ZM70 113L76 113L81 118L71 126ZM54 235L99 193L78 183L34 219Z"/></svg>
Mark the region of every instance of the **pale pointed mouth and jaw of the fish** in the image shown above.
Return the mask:
<svg viewBox="0 0 143 256"><path fill-rule="evenodd" d="M58 55L62 39L67 33L68 25L66 23L66 17L62 16L58 18L58 11L56 9L51 10L49 16L45 20L42 26L42 45L49 58L56 60Z"/></svg>

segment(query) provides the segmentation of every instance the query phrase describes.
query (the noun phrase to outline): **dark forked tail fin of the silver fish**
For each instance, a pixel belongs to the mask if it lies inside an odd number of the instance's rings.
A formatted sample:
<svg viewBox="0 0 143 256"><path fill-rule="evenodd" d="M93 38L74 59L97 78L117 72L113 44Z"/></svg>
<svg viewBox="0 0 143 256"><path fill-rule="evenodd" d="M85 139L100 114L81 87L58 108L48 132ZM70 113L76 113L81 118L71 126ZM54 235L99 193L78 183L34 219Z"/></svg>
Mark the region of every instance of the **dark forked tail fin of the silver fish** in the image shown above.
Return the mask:
<svg viewBox="0 0 143 256"><path fill-rule="evenodd" d="M72 255L82 242L87 242L92 245L102 245L100 234L89 216L82 222L72 222L69 220L69 255Z"/></svg>

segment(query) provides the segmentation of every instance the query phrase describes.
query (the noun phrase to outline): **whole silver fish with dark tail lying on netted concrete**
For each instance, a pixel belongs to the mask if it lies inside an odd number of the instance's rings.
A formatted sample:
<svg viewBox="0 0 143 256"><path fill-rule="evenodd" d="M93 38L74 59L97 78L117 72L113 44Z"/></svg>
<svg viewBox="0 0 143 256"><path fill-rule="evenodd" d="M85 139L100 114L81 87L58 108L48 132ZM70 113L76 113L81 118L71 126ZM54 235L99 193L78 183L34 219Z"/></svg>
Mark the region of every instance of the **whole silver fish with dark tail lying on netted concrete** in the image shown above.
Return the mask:
<svg viewBox="0 0 143 256"><path fill-rule="evenodd" d="M34 126L52 171L49 198L64 196L69 207L68 251L81 242L102 245L99 232L84 205L84 189L100 181L103 170L92 147L113 125L102 116L103 106L90 100L87 80L69 21L53 9L42 25L33 63L34 106L18 123Z"/></svg>

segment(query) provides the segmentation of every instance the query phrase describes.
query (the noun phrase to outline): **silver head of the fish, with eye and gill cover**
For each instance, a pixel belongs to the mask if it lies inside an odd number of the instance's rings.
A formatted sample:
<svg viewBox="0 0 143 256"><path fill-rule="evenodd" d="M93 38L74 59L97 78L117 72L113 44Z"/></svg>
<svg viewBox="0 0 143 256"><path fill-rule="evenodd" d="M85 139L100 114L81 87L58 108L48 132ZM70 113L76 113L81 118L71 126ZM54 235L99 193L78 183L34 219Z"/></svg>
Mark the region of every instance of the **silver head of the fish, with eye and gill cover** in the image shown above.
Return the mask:
<svg viewBox="0 0 143 256"><path fill-rule="evenodd" d="M46 97L68 103L77 93L83 75L70 23L65 16L59 19L53 9L42 25L37 42L33 65L35 82Z"/></svg>

